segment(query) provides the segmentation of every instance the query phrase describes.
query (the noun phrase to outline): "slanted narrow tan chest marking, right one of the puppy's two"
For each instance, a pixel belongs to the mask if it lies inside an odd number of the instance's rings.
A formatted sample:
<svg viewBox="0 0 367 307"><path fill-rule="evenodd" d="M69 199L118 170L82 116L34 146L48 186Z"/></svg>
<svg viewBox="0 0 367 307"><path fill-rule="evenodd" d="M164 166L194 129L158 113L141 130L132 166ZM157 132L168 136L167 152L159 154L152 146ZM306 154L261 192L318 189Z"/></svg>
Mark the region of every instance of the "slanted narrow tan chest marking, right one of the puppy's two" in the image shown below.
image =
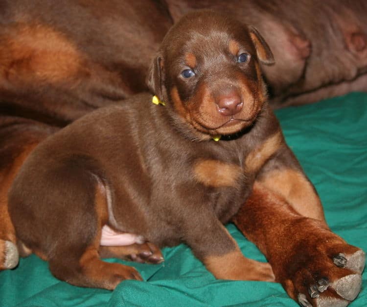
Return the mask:
<svg viewBox="0 0 367 307"><path fill-rule="evenodd" d="M284 142L281 131L275 132L264 143L260 144L251 153L248 154L245 160L247 171L257 172L268 161L268 159L276 153L280 145Z"/></svg>

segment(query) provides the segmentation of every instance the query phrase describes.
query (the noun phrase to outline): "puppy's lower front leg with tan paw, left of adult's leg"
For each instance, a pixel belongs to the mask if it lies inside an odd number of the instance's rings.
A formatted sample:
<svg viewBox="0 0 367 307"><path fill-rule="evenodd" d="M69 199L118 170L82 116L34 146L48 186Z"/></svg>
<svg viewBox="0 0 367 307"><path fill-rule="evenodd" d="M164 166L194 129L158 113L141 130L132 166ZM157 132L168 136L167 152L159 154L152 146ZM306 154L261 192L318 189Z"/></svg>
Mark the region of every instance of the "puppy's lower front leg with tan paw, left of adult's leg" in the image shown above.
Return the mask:
<svg viewBox="0 0 367 307"><path fill-rule="evenodd" d="M208 215L185 231L185 241L206 268L217 278L242 281L275 281L269 263L248 259L241 253L223 224ZM203 223L203 221L206 221ZM193 227L192 225L195 225Z"/></svg>

